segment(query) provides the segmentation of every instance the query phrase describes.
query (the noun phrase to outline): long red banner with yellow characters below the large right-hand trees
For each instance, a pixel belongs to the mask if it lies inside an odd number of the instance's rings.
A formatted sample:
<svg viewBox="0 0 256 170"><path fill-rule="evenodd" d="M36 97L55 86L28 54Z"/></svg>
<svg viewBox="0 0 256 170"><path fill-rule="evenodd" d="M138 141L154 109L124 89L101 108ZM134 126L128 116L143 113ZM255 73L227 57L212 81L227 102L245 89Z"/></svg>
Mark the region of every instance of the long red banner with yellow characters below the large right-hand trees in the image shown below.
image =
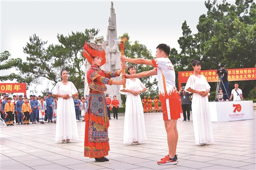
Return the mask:
<svg viewBox="0 0 256 170"><path fill-rule="evenodd" d="M226 69L228 81L256 80L256 68ZM187 83L193 71L178 72L179 87L181 83ZM202 70L199 74L204 75L208 82L217 82L217 70Z"/></svg>

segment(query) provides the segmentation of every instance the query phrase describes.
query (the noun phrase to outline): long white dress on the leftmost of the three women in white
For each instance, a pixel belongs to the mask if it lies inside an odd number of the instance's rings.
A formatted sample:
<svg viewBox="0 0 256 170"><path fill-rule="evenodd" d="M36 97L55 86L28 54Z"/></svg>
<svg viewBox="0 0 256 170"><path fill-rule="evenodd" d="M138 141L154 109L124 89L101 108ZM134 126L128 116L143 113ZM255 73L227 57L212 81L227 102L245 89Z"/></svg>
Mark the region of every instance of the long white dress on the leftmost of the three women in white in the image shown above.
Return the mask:
<svg viewBox="0 0 256 170"><path fill-rule="evenodd" d="M54 95L69 95L76 94L77 89L72 82L68 82L64 85L62 82L56 84ZM58 119L56 122L56 137L55 141L60 142L64 139L70 139L74 141L78 139L78 130L75 116L75 105L72 97L64 99L58 97L57 107Z"/></svg>

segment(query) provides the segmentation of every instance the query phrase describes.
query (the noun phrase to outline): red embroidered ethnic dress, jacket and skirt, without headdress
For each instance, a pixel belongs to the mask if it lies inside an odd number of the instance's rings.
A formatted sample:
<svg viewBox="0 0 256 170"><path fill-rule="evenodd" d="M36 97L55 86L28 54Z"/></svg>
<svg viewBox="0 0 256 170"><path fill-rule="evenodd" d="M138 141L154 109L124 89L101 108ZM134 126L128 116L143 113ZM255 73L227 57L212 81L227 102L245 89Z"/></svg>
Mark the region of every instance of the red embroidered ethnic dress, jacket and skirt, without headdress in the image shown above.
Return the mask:
<svg viewBox="0 0 256 170"><path fill-rule="evenodd" d="M97 92L90 93L85 113L85 157L100 158L108 155L109 119L104 92L107 90L105 84L111 85L113 80L110 78L117 76L119 76L117 71L104 72L95 65L92 65L87 72L89 88Z"/></svg>

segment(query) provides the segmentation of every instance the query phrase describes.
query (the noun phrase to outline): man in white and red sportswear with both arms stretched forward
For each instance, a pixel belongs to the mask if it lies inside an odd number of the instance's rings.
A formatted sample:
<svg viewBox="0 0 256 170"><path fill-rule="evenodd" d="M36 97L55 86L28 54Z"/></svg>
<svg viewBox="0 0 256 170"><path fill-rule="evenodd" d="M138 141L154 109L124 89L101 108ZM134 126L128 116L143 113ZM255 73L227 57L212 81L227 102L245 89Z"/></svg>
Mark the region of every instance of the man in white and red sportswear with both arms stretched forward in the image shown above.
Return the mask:
<svg viewBox="0 0 256 170"><path fill-rule="evenodd" d="M175 87L174 67L168 58L170 47L166 44L160 44L157 47L156 59L147 60L142 58L127 58L120 56L122 62L130 62L134 64L145 64L154 66L155 69L137 73L125 74L126 78L142 78L152 75L158 75L159 98L162 103L162 115L165 129L167 132L167 143L169 153L161 161L159 165L177 164L176 147L178 143L177 120L180 118L180 98L177 88Z"/></svg>

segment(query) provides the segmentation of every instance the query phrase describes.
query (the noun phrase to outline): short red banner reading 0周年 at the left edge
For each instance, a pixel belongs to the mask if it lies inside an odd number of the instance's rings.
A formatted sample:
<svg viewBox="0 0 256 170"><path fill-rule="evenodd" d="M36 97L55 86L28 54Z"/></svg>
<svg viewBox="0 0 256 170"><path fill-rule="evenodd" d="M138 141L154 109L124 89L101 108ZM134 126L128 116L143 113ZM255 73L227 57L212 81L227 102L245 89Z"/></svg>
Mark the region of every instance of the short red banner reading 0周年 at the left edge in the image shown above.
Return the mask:
<svg viewBox="0 0 256 170"><path fill-rule="evenodd" d="M0 83L0 93L24 93L27 92L27 83Z"/></svg>

